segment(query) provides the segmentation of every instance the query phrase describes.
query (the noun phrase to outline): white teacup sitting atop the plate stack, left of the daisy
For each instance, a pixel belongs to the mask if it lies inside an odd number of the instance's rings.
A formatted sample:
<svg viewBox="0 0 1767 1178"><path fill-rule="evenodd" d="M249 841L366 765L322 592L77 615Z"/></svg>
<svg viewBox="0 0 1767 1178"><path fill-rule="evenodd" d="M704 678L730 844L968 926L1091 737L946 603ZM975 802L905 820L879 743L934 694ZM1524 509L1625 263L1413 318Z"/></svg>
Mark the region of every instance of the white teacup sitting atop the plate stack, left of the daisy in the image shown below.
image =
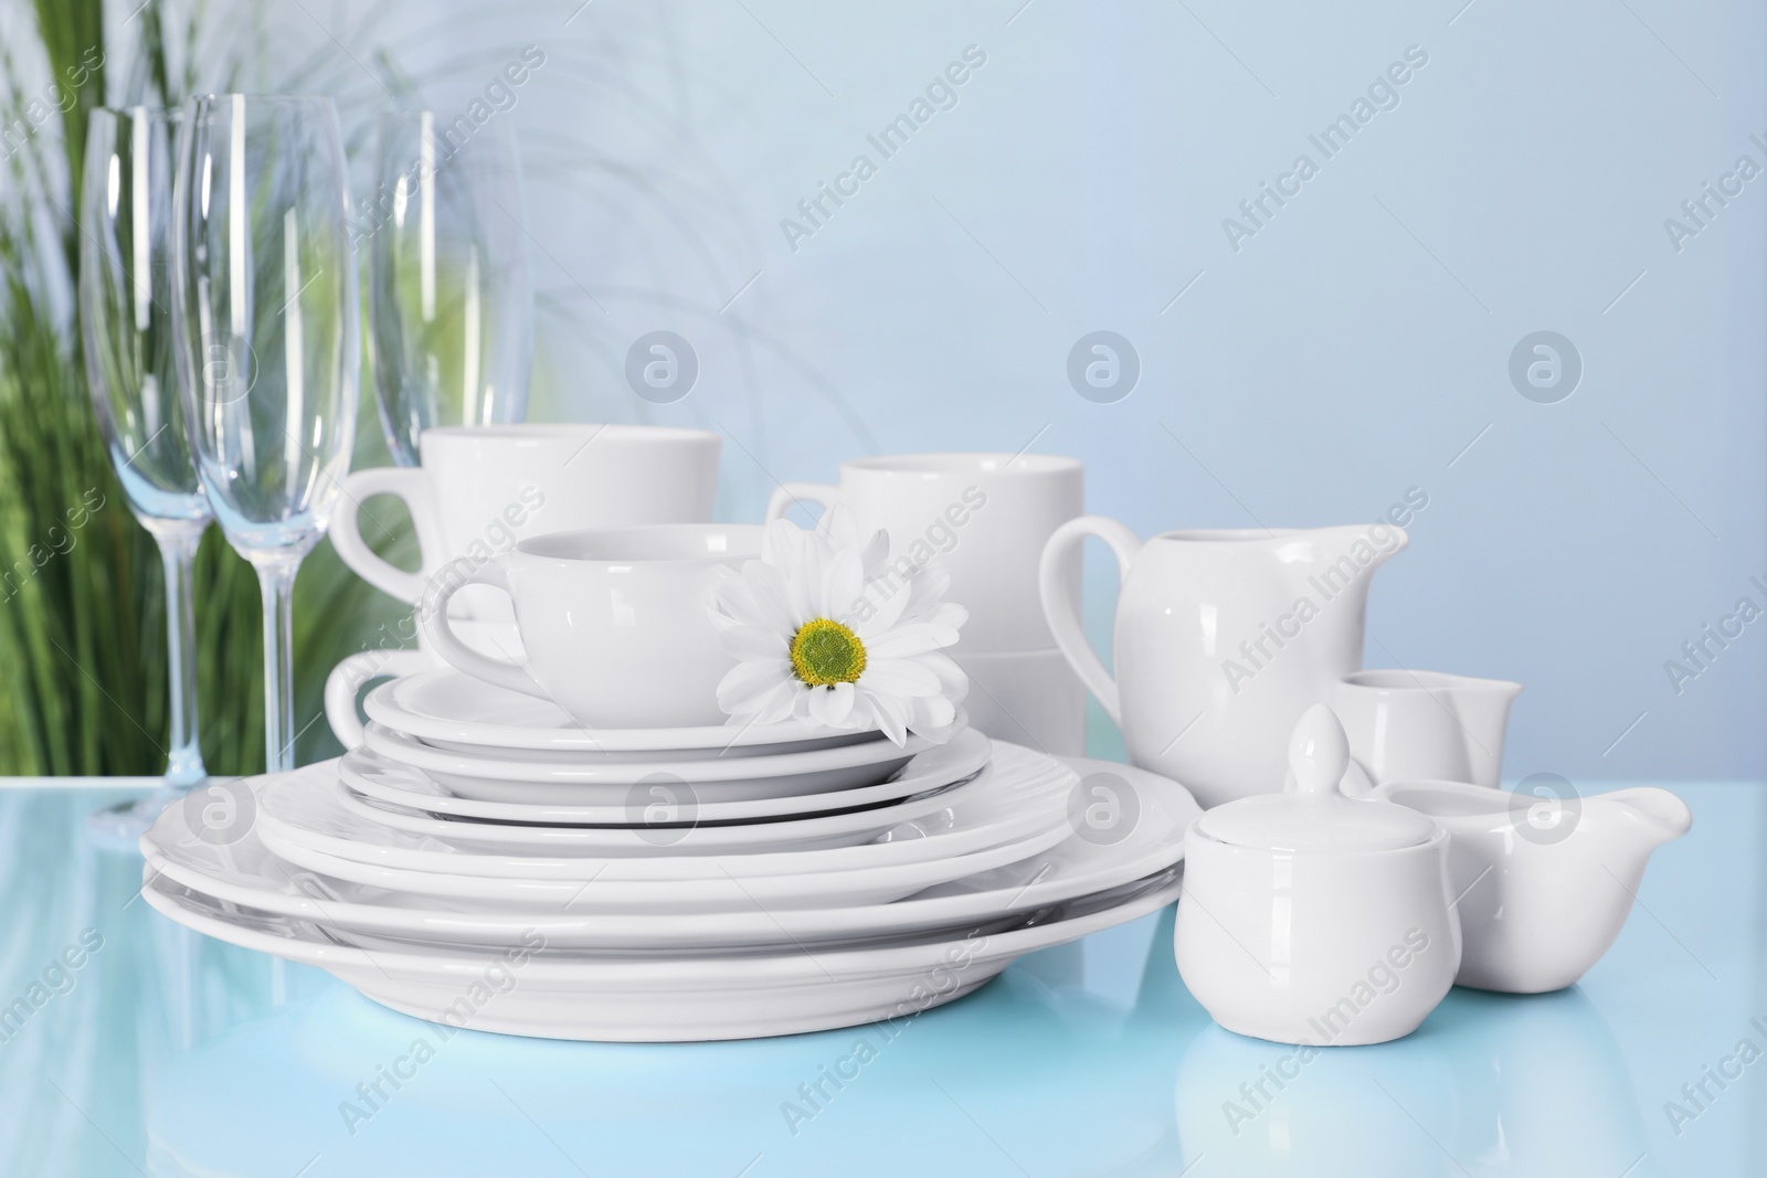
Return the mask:
<svg viewBox="0 0 1767 1178"><path fill-rule="evenodd" d="M588 728L721 724L717 682L737 664L712 622L721 565L760 555L758 525L652 525L521 540L461 576L435 578L419 609L431 648L466 675L551 699ZM514 600L527 661L479 653L447 602L466 585Z"/></svg>

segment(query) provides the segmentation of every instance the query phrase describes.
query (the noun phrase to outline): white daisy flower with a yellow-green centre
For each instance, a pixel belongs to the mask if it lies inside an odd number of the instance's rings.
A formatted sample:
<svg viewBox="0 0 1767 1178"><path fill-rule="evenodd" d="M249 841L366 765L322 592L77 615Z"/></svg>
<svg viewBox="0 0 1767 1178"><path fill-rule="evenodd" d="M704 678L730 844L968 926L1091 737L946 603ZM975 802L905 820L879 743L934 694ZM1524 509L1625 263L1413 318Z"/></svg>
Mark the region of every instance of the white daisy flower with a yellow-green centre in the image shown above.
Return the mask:
<svg viewBox="0 0 1767 1178"><path fill-rule="evenodd" d="M714 618L737 666L717 705L737 724L804 719L949 738L968 676L944 653L968 620L938 563L889 563L889 535L859 537L839 507L815 532L767 525L760 560L719 569Z"/></svg>

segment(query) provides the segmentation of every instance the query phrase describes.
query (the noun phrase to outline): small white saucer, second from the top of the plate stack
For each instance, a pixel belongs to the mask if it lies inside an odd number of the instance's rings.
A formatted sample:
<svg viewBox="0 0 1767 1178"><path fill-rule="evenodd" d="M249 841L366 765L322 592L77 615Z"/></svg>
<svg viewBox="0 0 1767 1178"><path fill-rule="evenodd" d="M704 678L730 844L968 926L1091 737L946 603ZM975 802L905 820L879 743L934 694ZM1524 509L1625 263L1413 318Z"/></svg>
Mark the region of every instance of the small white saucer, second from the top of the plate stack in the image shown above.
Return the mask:
<svg viewBox="0 0 1767 1178"><path fill-rule="evenodd" d="M368 724L362 747L389 761L421 768L438 784L470 798L610 805L622 802L627 789L638 782L668 779L689 782L707 798L716 795L726 802L875 786L915 754L937 745L926 736L910 733L905 745L864 740L770 756L558 763L523 759L521 752L505 756L449 752L382 724Z"/></svg>

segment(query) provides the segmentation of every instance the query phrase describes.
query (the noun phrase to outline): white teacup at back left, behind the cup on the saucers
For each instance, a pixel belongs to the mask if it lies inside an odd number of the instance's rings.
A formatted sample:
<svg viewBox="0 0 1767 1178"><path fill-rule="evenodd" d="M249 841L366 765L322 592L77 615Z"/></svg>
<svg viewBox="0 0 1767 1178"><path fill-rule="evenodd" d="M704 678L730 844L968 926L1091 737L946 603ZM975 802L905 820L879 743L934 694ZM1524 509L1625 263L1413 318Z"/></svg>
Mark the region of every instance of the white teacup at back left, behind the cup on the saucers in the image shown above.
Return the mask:
<svg viewBox="0 0 1767 1178"><path fill-rule="evenodd" d="M717 434L659 426L442 426L419 438L422 466L352 472L332 544L357 576L417 604L424 585L456 558L486 563L525 537L574 528L703 523L717 489ZM360 503L405 500L422 560L406 572L362 542ZM509 622L493 593L468 595L463 613Z"/></svg>

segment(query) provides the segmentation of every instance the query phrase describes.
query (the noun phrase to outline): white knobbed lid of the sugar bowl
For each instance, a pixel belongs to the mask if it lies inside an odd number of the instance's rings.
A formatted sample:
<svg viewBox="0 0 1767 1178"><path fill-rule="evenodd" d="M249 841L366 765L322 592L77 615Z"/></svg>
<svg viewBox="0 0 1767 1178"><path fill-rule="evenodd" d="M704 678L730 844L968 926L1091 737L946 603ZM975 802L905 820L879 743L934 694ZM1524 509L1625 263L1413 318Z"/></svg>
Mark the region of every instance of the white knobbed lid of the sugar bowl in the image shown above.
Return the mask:
<svg viewBox="0 0 1767 1178"><path fill-rule="evenodd" d="M1196 834L1269 851L1391 851L1428 842L1437 823L1407 805L1343 797L1350 740L1323 703L1306 710L1288 738L1293 793L1265 793L1217 805Z"/></svg>

